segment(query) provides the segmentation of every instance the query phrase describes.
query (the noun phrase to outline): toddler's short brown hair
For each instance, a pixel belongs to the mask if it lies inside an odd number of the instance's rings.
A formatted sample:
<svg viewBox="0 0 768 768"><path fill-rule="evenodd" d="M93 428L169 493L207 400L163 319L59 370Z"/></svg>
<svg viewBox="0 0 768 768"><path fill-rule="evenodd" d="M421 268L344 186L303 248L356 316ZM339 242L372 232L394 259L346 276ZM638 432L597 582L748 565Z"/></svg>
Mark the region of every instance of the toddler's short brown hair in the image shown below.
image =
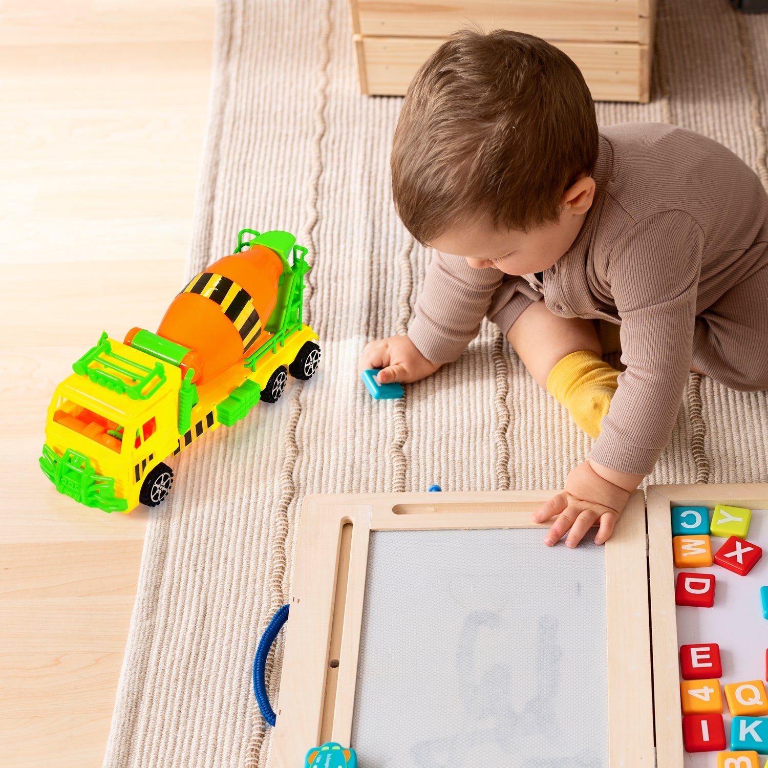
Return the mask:
<svg viewBox="0 0 768 768"><path fill-rule="evenodd" d="M465 29L425 61L392 147L392 196L421 243L485 217L528 231L598 157L594 102L578 67L541 38Z"/></svg>

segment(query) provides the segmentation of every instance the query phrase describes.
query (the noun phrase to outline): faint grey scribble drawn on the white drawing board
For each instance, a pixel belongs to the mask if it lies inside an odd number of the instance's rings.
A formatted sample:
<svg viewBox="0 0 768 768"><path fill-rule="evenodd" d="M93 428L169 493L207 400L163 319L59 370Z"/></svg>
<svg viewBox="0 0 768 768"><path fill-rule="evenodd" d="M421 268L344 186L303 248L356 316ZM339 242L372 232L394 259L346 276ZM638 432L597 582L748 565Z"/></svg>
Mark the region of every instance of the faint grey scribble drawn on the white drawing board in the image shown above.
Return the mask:
<svg viewBox="0 0 768 768"><path fill-rule="evenodd" d="M538 620L535 691L519 710L512 700L515 670L511 663L475 669L478 634L484 628L504 631L500 617L492 611L469 614L456 654L455 671L466 691L465 730L452 737L415 743L411 751L415 765L419 768L471 765L472 750L493 743L509 756L510 765L519 768L562 768L565 761L573 768L601 768L602 762L594 753L541 756L541 744L556 741L560 732L554 710L562 656L557 618L544 615Z"/></svg>

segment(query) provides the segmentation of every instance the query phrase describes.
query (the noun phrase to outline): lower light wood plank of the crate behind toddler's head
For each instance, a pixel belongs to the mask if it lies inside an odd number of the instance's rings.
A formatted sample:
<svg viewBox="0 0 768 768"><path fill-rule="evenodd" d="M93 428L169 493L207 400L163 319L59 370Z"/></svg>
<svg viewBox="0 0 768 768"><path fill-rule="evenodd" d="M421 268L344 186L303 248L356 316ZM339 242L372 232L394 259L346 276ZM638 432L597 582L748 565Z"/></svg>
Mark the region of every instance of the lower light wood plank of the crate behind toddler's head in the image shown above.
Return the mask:
<svg viewBox="0 0 768 768"><path fill-rule="evenodd" d="M359 38L369 93L402 95L419 67L442 43L441 38ZM597 101L639 101L641 49L635 43L551 41L584 74Z"/></svg>

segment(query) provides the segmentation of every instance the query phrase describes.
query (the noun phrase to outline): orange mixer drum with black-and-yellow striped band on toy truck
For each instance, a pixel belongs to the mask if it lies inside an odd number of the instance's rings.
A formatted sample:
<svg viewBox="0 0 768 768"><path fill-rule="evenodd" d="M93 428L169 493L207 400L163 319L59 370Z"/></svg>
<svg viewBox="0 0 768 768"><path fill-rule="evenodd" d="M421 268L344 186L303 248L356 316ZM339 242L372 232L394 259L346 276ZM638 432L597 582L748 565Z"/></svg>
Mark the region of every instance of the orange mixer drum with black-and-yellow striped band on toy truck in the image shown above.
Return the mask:
<svg viewBox="0 0 768 768"><path fill-rule="evenodd" d="M192 350L198 384L233 366L263 336L282 272L280 257L254 244L214 262L176 296L157 334Z"/></svg>

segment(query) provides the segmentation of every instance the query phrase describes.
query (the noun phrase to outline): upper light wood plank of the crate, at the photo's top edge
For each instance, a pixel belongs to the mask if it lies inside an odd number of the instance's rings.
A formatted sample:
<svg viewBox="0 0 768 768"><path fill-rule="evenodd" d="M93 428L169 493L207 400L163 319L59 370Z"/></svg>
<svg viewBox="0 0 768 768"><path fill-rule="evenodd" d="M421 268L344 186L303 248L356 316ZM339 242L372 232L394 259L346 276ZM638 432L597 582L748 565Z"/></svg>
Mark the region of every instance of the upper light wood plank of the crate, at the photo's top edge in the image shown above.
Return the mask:
<svg viewBox="0 0 768 768"><path fill-rule="evenodd" d="M547 40L641 41L639 0L357 0L356 6L354 31L362 35L445 37L472 24Z"/></svg>

